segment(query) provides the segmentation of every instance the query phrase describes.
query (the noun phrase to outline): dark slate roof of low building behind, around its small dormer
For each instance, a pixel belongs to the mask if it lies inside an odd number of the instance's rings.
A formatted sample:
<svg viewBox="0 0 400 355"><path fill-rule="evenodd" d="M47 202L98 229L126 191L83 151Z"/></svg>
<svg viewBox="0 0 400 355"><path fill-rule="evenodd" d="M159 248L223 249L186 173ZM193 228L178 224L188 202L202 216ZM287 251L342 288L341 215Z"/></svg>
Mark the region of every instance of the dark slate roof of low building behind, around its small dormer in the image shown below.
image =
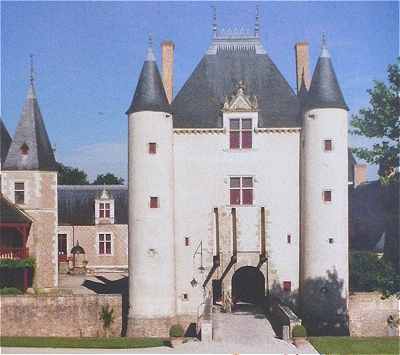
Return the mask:
<svg viewBox="0 0 400 355"><path fill-rule="evenodd" d="M114 223L128 224L128 186L59 185L58 224L94 225L95 200L106 189L114 199Z"/></svg>

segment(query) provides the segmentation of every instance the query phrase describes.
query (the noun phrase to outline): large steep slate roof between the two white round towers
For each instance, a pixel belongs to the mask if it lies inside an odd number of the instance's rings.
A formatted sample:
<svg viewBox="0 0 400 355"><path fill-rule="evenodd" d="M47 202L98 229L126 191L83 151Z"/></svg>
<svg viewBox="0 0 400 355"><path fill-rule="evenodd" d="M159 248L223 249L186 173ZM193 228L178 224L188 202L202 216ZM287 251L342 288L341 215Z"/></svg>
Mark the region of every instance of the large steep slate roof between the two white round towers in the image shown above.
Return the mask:
<svg viewBox="0 0 400 355"><path fill-rule="evenodd" d="M299 99L263 50L255 46L229 46L201 59L172 102L174 128L221 128L221 109L240 80L247 94L256 95L259 127L300 127ZM233 41L233 40L232 40ZM237 42L237 41L236 41ZM211 53L211 54L210 54Z"/></svg>

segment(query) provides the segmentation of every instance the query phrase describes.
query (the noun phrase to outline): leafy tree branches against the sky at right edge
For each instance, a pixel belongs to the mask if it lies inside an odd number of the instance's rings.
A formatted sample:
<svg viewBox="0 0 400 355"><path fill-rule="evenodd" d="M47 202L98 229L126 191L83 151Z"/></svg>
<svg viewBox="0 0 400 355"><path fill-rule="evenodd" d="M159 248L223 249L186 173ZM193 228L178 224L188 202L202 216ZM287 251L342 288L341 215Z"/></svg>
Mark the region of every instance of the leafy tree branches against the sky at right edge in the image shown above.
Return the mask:
<svg viewBox="0 0 400 355"><path fill-rule="evenodd" d="M388 84L374 81L369 108L363 108L352 118L352 134L377 139L372 148L354 148L359 158L379 166L383 184L398 181L400 154L400 57L388 66Z"/></svg>

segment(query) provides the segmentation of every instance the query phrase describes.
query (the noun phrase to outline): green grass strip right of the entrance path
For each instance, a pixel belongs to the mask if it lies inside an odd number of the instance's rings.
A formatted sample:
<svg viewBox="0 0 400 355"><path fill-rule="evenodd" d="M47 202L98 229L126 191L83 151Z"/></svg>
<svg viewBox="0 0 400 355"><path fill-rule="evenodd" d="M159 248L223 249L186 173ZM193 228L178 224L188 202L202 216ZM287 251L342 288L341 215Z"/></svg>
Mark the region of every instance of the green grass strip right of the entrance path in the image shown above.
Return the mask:
<svg viewBox="0 0 400 355"><path fill-rule="evenodd" d="M308 340L323 354L400 354L398 337L310 337Z"/></svg>

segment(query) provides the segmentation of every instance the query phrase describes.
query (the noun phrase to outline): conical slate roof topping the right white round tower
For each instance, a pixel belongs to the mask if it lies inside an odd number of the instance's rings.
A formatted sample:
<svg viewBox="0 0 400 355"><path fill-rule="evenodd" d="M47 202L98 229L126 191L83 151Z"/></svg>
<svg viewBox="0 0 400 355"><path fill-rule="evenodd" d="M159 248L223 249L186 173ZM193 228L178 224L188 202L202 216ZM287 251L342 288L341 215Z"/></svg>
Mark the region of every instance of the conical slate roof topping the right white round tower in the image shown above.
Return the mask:
<svg viewBox="0 0 400 355"><path fill-rule="evenodd" d="M342 108L348 110L325 44L322 46L307 95L307 109Z"/></svg>

